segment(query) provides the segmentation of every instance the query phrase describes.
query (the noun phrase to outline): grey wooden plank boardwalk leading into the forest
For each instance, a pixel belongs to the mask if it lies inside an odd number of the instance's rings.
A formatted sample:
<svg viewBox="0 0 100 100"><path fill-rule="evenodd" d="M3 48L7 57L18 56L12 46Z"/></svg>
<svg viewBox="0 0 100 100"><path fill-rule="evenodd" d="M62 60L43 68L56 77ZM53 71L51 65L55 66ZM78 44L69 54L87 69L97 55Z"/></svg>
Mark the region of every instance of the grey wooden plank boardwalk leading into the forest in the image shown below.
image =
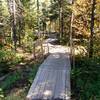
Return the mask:
<svg viewBox="0 0 100 100"><path fill-rule="evenodd" d="M39 67L28 100L70 100L69 54L57 48L52 51L57 52L51 53Z"/></svg>

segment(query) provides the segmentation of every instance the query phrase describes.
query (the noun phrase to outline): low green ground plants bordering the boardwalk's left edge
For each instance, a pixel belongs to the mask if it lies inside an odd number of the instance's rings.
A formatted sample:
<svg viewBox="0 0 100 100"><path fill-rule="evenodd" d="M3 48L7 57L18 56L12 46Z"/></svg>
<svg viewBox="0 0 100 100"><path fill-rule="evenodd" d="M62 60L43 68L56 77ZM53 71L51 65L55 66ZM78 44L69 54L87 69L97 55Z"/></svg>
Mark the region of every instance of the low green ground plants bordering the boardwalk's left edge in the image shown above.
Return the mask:
<svg viewBox="0 0 100 100"><path fill-rule="evenodd" d="M18 70L9 74L1 83L0 83L0 100L23 100L26 99L27 92L32 84L32 81L36 75L38 67L41 62L34 64L32 62L28 65L28 68L25 67L23 70ZM18 83L21 80L25 82ZM7 91L12 90L16 84L21 84L21 87L18 87L18 92L11 92L6 95ZM25 85L26 84L26 85ZM16 99L17 98L17 99Z"/></svg>

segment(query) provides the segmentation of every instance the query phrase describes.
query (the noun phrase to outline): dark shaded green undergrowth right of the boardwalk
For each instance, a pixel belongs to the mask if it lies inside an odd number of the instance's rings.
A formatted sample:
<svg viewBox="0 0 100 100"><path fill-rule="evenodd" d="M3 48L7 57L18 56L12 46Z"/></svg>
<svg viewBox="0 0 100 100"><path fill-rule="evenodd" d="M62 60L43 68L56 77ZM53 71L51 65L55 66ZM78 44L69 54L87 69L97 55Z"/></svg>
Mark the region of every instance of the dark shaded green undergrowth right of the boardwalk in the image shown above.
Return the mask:
<svg viewBox="0 0 100 100"><path fill-rule="evenodd" d="M72 70L74 95L78 100L99 100L100 57L76 58L75 63L75 69Z"/></svg>

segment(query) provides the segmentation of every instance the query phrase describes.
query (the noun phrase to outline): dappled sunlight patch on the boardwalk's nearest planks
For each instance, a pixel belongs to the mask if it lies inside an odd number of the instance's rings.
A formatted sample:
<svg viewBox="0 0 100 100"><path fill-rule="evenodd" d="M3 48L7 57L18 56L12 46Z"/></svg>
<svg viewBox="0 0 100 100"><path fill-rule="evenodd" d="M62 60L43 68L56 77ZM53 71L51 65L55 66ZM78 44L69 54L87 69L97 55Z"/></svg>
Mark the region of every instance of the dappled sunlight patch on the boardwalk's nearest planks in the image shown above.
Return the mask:
<svg viewBox="0 0 100 100"><path fill-rule="evenodd" d="M52 85L51 85L52 84ZM55 86L55 87L51 87ZM50 88L51 87L51 88ZM66 99L70 100L70 91L62 91L58 90L58 94L56 95L54 93L54 88L56 88L55 81L52 80L46 80L43 82L39 82L33 90L31 90L30 94L27 95L28 99L49 99L49 98L57 98L57 99Z"/></svg>

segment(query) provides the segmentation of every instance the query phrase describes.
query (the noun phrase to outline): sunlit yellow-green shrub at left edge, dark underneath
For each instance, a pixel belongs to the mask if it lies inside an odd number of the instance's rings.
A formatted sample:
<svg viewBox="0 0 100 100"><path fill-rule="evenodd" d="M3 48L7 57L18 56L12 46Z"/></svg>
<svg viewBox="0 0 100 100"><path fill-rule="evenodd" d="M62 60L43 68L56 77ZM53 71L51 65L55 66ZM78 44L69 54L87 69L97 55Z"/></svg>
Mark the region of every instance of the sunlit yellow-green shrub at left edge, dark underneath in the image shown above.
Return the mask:
<svg viewBox="0 0 100 100"><path fill-rule="evenodd" d="M9 49L1 49L0 50L0 76L8 73L10 69L13 69L14 65L18 64L21 60L22 57L17 56L13 51Z"/></svg>

